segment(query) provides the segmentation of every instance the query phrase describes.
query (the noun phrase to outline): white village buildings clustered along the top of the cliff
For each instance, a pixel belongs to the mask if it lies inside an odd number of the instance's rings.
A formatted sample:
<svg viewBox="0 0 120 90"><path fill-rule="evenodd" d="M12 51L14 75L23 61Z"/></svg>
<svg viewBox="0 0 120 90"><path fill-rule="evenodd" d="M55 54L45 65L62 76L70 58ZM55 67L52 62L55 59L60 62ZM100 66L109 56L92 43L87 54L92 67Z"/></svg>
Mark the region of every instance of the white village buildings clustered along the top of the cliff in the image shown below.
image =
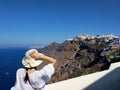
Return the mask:
<svg viewBox="0 0 120 90"><path fill-rule="evenodd" d="M110 45L108 47L110 48L119 48L120 46L120 37L115 36L113 34L110 35L102 35L102 36L92 36L92 35L81 35L81 36L77 36L73 39L67 39L67 41L71 41L71 42L79 42L79 41L90 41L92 43L99 42L106 42L106 43L110 43ZM109 49L110 49L109 48ZM107 49L107 47L106 47Z"/></svg>

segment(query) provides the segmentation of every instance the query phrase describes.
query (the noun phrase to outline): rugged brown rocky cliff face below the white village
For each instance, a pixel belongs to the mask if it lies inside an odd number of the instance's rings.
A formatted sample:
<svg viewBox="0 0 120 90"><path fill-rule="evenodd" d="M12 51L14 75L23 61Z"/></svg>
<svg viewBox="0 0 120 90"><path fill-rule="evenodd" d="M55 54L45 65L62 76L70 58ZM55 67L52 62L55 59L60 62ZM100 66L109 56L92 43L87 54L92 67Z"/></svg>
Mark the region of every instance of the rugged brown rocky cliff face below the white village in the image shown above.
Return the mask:
<svg viewBox="0 0 120 90"><path fill-rule="evenodd" d="M81 40L76 37L40 49L39 52L56 58L58 62L49 83L108 69L111 63L120 61L120 47L111 46L116 40L106 42L103 38Z"/></svg>

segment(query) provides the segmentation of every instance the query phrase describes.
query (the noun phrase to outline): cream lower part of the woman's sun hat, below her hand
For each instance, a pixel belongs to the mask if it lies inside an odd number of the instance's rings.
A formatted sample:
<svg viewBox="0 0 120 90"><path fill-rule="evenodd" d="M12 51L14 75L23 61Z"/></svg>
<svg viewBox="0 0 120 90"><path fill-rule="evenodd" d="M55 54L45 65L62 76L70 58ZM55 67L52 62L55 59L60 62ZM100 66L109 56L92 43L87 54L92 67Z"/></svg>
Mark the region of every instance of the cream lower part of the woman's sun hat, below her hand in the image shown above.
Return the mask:
<svg viewBox="0 0 120 90"><path fill-rule="evenodd" d="M37 67L38 65L40 65L43 61L42 60L35 60L33 58L30 57L24 57L22 59L22 64L24 67L26 68L32 68L32 67Z"/></svg>

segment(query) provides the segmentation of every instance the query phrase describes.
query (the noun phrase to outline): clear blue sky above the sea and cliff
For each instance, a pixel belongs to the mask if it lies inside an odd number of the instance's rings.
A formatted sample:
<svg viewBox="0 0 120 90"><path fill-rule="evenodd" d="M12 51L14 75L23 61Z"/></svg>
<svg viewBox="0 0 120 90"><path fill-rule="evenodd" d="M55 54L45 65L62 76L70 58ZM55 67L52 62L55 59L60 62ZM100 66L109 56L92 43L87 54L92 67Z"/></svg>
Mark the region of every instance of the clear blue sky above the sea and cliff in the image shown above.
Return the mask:
<svg viewBox="0 0 120 90"><path fill-rule="evenodd" d="M81 34L120 35L120 0L0 0L0 47L61 43Z"/></svg>

